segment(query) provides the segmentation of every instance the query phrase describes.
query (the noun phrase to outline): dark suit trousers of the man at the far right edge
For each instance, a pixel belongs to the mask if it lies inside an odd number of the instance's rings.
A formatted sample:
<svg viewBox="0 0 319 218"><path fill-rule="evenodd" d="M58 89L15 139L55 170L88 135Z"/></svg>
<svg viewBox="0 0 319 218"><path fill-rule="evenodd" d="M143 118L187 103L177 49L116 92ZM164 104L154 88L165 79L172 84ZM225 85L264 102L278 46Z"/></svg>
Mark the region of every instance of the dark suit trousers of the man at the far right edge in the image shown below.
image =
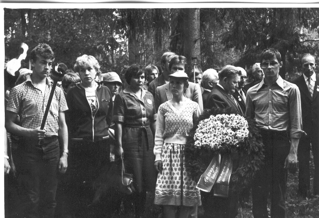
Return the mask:
<svg viewBox="0 0 319 218"><path fill-rule="evenodd" d="M298 193L303 197L308 197L310 190L310 143L315 165L313 193L314 195L319 194L319 142L315 133L309 133L307 136L302 136L298 144Z"/></svg>

